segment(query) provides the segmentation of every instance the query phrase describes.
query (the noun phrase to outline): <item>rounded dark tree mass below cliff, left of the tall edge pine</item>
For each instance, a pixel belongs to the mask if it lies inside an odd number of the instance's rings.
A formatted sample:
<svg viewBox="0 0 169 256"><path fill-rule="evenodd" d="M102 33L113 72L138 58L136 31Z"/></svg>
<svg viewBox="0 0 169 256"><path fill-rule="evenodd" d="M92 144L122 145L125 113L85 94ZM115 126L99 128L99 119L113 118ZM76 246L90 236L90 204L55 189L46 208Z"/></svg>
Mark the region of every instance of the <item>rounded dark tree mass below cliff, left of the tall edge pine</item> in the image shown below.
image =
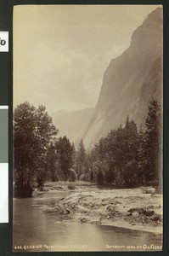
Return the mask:
<svg viewBox="0 0 169 256"><path fill-rule="evenodd" d="M96 145L99 160L104 161L106 183L121 186L134 185L130 175L138 170L138 130L133 120L127 117L124 128L110 131L107 137L101 138ZM129 174L130 173L130 174Z"/></svg>

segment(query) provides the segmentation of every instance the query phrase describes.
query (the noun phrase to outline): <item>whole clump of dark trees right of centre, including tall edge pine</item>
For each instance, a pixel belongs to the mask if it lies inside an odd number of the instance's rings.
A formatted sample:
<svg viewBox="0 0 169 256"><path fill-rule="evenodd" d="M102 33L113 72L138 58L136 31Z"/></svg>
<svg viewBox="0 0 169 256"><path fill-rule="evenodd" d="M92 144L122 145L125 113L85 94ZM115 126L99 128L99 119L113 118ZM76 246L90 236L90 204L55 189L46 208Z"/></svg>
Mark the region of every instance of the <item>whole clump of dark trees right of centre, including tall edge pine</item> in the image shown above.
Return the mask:
<svg viewBox="0 0 169 256"><path fill-rule="evenodd" d="M124 127L110 131L95 145L88 160L93 174L101 170L104 184L161 185L161 104L156 99L149 102L145 127L145 131L138 131L127 116Z"/></svg>

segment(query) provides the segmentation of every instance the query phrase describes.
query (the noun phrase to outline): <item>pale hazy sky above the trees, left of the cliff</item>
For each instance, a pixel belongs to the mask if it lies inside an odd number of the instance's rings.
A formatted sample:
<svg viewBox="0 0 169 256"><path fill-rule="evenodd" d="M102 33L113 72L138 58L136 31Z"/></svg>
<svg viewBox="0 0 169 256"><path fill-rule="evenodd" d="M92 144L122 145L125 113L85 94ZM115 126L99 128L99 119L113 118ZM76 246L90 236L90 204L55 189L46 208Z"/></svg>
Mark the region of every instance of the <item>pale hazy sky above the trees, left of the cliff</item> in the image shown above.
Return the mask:
<svg viewBox="0 0 169 256"><path fill-rule="evenodd" d="M14 6L14 108L94 107L105 68L158 5Z"/></svg>

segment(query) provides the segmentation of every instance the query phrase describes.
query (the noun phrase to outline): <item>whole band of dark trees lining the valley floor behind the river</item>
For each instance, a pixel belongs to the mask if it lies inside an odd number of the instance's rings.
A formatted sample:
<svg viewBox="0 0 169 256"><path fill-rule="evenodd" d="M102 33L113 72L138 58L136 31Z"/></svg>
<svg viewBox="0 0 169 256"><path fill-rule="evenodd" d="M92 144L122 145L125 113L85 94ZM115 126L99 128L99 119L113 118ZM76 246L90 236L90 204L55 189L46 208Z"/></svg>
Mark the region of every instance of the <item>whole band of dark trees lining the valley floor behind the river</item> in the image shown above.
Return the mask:
<svg viewBox="0 0 169 256"><path fill-rule="evenodd" d="M46 181L97 183L100 188L150 185L161 189L161 103L149 102L143 128L127 116L126 124L111 130L86 152L59 130L44 106L24 102L14 109L14 196L29 197Z"/></svg>

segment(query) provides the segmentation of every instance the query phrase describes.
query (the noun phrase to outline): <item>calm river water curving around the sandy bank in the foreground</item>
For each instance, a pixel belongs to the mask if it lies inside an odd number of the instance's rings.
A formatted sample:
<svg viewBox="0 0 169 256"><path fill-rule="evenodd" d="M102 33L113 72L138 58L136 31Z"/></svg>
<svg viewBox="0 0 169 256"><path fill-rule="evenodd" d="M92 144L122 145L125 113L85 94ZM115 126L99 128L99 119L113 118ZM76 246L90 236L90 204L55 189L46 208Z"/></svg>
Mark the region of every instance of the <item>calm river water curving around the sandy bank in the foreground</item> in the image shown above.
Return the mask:
<svg viewBox="0 0 169 256"><path fill-rule="evenodd" d="M161 236L148 232L63 219L54 207L65 195L48 192L14 199L14 251L147 251L161 246Z"/></svg>

